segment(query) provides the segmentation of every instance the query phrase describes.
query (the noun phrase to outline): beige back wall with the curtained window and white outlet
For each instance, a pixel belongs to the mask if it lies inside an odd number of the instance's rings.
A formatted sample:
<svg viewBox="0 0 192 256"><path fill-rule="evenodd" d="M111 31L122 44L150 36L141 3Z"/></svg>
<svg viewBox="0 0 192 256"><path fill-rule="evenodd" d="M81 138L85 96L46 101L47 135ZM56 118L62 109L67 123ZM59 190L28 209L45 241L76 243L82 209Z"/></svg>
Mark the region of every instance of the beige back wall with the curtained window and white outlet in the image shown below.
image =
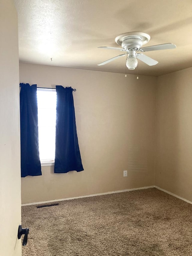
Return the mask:
<svg viewBox="0 0 192 256"><path fill-rule="evenodd" d="M154 185L156 78L20 63L20 82L72 86L84 171L22 178L22 203ZM123 177L128 170L128 177Z"/></svg>

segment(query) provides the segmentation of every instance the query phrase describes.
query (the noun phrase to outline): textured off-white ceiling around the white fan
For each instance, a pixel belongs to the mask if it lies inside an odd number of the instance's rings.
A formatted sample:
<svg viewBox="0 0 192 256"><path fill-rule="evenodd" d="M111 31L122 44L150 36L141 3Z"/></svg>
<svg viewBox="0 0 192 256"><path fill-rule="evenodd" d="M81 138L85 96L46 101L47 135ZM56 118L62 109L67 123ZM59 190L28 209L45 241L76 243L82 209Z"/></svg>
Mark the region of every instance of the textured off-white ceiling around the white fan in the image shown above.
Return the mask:
<svg viewBox="0 0 192 256"><path fill-rule="evenodd" d="M139 61L138 73L159 76L192 66L191 0L15 0L21 62L125 73L126 56L99 46L120 47L116 36L138 31L145 46L173 43L176 49L146 52L159 63ZM51 61L52 58L52 61ZM128 70L127 74L137 74Z"/></svg>

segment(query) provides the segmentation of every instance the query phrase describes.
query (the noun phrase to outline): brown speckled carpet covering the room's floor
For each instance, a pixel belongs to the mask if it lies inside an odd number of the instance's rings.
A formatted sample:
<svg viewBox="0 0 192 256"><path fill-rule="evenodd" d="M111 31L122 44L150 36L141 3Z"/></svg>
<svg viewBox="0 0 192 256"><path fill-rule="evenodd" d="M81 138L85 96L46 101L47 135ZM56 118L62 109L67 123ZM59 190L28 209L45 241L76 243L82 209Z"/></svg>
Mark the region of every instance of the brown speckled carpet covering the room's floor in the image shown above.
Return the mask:
<svg viewBox="0 0 192 256"><path fill-rule="evenodd" d="M191 256L192 205L155 188L22 206L22 256Z"/></svg>

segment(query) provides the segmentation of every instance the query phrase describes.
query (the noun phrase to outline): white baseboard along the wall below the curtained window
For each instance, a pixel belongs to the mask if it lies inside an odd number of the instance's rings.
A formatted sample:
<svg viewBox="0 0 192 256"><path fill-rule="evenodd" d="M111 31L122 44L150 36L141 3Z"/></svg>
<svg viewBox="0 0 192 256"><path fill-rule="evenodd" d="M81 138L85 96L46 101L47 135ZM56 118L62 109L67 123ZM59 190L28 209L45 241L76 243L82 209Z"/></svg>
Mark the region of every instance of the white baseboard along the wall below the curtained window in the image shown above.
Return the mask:
<svg viewBox="0 0 192 256"><path fill-rule="evenodd" d="M115 194L115 193L122 193L122 192L127 192L127 191L133 191L133 190L147 189L147 188L155 188L155 186L149 186L149 187L143 187L143 188L131 188L131 189L124 189L124 190L116 190L116 191L109 191L109 192L105 192L105 193L85 195L85 196L79 196L79 197L69 197L69 198L63 198L63 199L55 199L55 200L49 200L49 201L44 201L44 202L23 203L21 206L27 206L27 205L33 205L33 204L42 204L42 203L52 203L52 202L58 202L58 201L65 201L65 200L83 198L83 197L95 197L95 196L101 196L101 195L107 195L107 194Z"/></svg>

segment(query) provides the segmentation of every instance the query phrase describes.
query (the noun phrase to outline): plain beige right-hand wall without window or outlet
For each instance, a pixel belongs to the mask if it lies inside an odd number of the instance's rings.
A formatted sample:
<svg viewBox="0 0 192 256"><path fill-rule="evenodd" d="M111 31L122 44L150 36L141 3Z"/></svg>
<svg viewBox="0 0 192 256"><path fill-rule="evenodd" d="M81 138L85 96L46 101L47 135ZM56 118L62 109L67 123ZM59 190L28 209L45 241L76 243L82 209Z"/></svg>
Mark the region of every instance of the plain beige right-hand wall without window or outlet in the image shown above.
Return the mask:
<svg viewBox="0 0 192 256"><path fill-rule="evenodd" d="M192 68L157 80L155 185L192 201Z"/></svg>

